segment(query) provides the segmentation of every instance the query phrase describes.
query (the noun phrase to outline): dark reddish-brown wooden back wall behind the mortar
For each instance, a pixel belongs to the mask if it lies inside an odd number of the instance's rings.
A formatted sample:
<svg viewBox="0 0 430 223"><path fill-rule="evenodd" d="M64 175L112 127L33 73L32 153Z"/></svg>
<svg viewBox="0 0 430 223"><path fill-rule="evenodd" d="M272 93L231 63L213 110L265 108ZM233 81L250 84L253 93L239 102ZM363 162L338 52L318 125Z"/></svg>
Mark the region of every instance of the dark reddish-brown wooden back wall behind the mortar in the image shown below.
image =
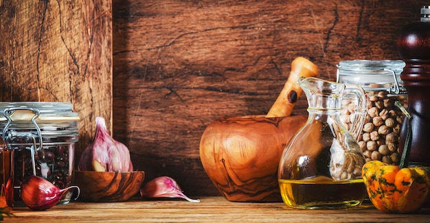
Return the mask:
<svg viewBox="0 0 430 223"><path fill-rule="evenodd" d="M398 59L396 36L427 1L113 1L114 137L146 180L219 194L199 141L218 117L267 114L304 56L336 79L347 59ZM293 113L306 115L300 97Z"/></svg>

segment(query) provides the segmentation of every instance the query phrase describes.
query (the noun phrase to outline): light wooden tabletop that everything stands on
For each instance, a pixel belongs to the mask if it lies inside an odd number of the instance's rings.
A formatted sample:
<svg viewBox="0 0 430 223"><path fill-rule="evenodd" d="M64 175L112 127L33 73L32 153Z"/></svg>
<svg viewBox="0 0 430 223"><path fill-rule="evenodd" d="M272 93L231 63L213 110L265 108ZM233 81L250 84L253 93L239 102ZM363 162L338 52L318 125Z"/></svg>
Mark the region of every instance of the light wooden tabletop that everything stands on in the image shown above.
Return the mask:
<svg viewBox="0 0 430 223"><path fill-rule="evenodd" d="M46 211L16 207L3 222L430 222L430 209L414 215L388 214L372 204L348 210L296 210L282 202L229 202L205 197L199 203L185 200L127 202L70 202Z"/></svg>

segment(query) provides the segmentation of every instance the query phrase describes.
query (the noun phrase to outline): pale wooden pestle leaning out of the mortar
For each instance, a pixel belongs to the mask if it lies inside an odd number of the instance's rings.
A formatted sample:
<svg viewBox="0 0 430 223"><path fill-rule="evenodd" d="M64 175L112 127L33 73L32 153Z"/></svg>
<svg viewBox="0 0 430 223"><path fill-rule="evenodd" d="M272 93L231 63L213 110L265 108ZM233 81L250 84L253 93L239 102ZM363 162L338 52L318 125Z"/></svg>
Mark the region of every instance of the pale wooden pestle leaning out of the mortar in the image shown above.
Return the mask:
<svg viewBox="0 0 430 223"><path fill-rule="evenodd" d="M293 111L295 102L302 95L303 90L297 84L297 79L300 77L316 77L318 75L318 67L310 60L297 57L291 62L291 72L288 80L284 85L281 93L278 95L273 106L270 108L266 117L286 117L290 116Z"/></svg>

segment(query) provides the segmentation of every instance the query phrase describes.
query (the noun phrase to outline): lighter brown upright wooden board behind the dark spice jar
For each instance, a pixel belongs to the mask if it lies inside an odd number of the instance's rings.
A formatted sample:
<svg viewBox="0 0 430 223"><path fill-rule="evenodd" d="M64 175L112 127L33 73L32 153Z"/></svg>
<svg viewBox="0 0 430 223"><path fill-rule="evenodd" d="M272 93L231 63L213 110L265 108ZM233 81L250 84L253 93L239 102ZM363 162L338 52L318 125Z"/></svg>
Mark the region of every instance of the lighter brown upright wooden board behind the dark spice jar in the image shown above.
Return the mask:
<svg viewBox="0 0 430 223"><path fill-rule="evenodd" d="M111 126L111 19L111 1L0 1L0 100L73 104L77 157Z"/></svg>

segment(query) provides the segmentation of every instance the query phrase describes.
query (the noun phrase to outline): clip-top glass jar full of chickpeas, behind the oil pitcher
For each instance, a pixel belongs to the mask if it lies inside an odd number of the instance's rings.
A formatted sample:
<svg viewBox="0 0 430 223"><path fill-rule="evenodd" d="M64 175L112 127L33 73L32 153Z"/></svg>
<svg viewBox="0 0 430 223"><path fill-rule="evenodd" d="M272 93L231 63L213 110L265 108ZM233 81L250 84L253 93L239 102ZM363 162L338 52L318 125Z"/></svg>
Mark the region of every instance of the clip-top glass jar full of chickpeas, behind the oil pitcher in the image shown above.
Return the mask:
<svg viewBox="0 0 430 223"><path fill-rule="evenodd" d="M366 162L388 164L400 161L399 139L404 115L394 105L407 106L407 92L400 80L402 60L342 60L337 64L337 82L358 84L367 93L367 115L359 135ZM341 121L347 128L354 121L355 104L343 99Z"/></svg>

